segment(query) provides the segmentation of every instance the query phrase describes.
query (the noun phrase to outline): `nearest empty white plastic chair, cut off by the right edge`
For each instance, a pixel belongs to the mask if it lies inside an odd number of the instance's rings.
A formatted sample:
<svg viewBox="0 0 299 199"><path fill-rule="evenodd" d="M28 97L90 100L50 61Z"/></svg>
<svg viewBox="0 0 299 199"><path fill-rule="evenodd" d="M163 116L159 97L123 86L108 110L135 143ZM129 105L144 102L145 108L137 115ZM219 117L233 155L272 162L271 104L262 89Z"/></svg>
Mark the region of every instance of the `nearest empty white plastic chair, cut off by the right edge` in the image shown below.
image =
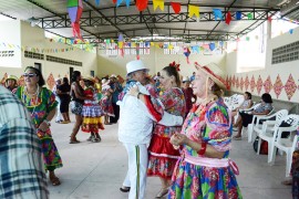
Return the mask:
<svg viewBox="0 0 299 199"><path fill-rule="evenodd" d="M286 160L286 177L290 176L290 169L291 169L291 160L292 160L292 153L295 151L297 142L298 142L298 135L292 136L293 134L297 134L297 129L299 126L299 115L288 115L285 119L286 123L288 123L289 127L279 127L276 132L277 139L274 143L272 147L272 155L270 157L271 165L275 164L276 158L276 151L278 149L285 151L287 154ZM290 136L288 138L281 138L282 132L289 132ZM293 139L292 139L293 137Z"/></svg>

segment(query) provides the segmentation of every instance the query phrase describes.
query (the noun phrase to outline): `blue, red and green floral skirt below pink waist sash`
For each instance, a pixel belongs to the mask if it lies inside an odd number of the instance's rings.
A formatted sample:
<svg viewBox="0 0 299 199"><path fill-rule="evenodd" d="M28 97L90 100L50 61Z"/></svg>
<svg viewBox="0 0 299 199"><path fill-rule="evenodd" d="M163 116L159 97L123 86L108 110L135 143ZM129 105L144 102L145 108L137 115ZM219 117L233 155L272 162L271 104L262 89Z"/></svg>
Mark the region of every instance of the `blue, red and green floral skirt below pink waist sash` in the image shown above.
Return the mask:
<svg viewBox="0 0 299 199"><path fill-rule="evenodd" d="M168 199L241 199L230 167L203 167L179 159L168 191Z"/></svg>

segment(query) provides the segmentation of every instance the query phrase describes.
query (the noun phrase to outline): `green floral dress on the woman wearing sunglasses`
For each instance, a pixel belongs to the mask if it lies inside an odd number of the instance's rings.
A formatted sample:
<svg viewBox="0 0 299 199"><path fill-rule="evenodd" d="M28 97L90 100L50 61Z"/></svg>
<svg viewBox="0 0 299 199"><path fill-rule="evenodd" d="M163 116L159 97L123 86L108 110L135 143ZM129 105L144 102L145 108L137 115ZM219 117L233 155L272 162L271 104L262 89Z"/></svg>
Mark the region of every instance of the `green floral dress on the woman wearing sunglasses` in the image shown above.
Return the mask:
<svg viewBox="0 0 299 199"><path fill-rule="evenodd" d="M40 90L41 92L32 98L24 92L24 86L18 87L16 94L31 114L32 123L42 143L45 170L54 170L62 167L62 160L52 138L51 129L48 128L47 132L42 132L38 127L47 118L48 114L56 107L58 102L55 101L55 95L50 90L45 87L40 87Z"/></svg>

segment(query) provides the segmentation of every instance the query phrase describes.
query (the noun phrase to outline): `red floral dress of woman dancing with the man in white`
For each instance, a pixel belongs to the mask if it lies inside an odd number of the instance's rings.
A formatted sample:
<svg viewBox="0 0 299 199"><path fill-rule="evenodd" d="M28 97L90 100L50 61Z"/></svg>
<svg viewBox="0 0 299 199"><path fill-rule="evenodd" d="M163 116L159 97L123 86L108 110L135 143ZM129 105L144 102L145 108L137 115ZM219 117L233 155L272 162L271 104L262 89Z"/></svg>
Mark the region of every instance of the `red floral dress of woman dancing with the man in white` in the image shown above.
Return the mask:
<svg viewBox="0 0 299 199"><path fill-rule="evenodd" d="M186 101L181 88L174 87L165 91L158 98L165 106L165 112L182 117L185 116ZM161 124L155 125L151 145L148 147L148 176L159 176L167 179L172 178L175 164L179 158L179 151L174 149L169 139L175 133L179 133L181 129L182 126L168 127Z"/></svg>

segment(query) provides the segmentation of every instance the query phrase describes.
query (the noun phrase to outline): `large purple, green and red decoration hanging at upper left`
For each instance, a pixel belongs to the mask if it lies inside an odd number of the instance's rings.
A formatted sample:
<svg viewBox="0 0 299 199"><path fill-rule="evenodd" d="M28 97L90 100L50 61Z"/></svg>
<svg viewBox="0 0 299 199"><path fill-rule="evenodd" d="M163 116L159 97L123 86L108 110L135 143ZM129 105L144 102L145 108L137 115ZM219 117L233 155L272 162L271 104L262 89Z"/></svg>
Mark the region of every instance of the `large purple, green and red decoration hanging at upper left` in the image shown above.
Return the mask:
<svg viewBox="0 0 299 199"><path fill-rule="evenodd" d="M68 0L68 12L72 22L73 35L82 40L80 33L80 18L82 15L83 4L82 0Z"/></svg>

